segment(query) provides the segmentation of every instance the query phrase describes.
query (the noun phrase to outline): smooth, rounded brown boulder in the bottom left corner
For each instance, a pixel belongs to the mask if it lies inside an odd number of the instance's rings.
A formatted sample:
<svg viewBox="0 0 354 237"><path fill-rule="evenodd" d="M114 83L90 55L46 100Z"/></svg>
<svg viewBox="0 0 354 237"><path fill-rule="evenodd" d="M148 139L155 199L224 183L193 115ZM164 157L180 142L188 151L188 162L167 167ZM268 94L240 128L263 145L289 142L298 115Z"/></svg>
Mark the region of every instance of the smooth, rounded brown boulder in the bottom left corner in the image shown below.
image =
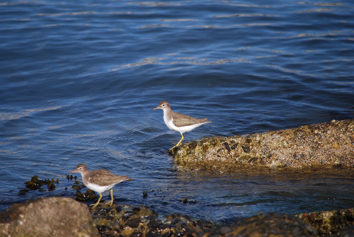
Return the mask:
<svg viewBox="0 0 354 237"><path fill-rule="evenodd" d="M72 198L39 198L0 214L0 236L99 236L86 204Z"/></svg>

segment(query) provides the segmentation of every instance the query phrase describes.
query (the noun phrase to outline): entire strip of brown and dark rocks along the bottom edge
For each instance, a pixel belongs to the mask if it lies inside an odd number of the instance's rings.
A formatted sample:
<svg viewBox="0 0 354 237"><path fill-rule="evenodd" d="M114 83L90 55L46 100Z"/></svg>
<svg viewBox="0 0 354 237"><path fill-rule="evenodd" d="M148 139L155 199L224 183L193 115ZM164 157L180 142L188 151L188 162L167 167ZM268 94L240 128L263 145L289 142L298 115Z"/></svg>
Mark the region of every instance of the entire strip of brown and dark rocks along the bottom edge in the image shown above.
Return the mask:
<svg viewBox="0 0 354 237"><path fill-rule="evenodd" d="M0 214L0 236L354 236L354 210L268 213L228 226L141 205L86 204L67 197L14 204Z"/></svg>

